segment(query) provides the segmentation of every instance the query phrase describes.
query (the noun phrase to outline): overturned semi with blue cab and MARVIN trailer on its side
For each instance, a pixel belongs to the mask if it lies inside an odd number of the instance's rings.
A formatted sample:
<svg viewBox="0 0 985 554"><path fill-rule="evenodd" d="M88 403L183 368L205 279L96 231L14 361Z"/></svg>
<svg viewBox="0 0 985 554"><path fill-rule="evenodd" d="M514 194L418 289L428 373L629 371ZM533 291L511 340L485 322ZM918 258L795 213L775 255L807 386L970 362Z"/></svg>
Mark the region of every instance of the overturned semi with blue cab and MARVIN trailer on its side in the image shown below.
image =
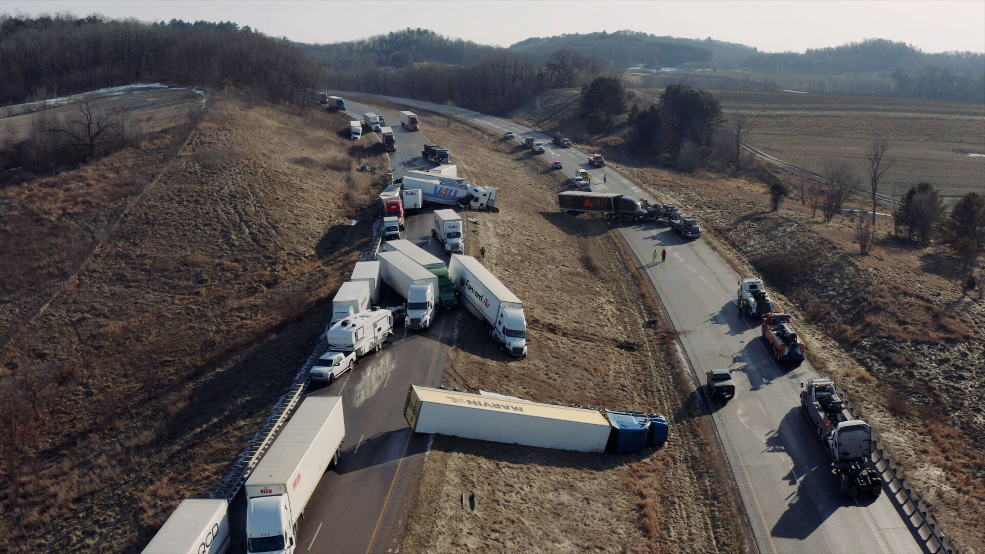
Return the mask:
<svg viewBox="0 0 985 554"><path fill-rule="evenodd" d="M531 402L412 384L404 418L415 433L581 452L633 452L667 442L670 425L654 413Z"/></svg>

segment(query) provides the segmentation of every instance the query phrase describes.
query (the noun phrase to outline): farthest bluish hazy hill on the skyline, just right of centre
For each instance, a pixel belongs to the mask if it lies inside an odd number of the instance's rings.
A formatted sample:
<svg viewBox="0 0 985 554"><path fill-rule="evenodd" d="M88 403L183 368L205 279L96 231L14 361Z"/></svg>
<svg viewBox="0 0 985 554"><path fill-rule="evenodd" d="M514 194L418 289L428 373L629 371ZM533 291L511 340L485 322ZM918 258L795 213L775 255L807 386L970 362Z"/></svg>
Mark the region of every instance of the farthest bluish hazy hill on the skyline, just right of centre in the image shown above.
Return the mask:
<svg viewBox="0 0 985 554"><path fill-rule="evenodd" d="M649 67L677 67L685 63L706 64L711 50L682 42L663 40L658 36L635 31L558 35L546 38L527 38L511 45L510 50L525 52L541 59L560 48L571 48L593 55L616 67L644 64Z"/></svg>

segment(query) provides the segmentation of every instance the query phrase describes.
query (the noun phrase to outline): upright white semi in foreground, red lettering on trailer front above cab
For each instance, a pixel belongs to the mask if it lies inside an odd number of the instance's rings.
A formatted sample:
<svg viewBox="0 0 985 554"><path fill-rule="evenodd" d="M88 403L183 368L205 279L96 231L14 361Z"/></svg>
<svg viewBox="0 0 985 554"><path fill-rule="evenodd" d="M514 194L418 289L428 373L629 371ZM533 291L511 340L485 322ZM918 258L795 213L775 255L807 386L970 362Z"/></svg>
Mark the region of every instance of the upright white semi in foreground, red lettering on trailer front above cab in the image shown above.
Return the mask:
<svg viewBox="0 0 985 554"><path fill-rule="evenodd" d="M246 479L247 552L294 552L297 519L345 437L341 397L304 398Z"/></svg>

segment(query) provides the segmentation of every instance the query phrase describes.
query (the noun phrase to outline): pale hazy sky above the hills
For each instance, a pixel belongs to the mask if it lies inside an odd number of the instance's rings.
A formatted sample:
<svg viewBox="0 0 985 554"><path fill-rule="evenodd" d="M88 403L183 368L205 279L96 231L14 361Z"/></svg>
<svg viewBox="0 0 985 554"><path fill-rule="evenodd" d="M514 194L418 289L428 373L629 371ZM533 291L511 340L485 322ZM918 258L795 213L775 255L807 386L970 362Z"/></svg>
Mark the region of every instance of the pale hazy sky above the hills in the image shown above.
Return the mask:
<svg viewBox="0 0 985 554"><path fill-rule="evenodd" d="M337 42L420 27L507 46L530 36L628 29L711 36L770 52L864 38L900 40L925 52L985 52L985 0L3 0L0 10L233 21L302 42Z"/></svg>

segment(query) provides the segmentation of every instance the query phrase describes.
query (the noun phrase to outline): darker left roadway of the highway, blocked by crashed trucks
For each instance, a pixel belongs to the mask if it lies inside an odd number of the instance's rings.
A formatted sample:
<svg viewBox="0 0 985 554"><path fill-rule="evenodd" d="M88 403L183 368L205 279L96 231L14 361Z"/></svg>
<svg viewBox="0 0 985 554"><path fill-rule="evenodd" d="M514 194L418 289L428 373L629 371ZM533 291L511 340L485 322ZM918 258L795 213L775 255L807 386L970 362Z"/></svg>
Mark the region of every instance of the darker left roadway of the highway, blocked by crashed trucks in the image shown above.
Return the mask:
<svg viewBox="0 0 985 554"><path fill-rule="evenodd" d="M361 120L363 111L384 114L397 137L398 150L390 154L394 167L405 162L409 168L434 166L420 157L426 137L404 131L399 113L346 104L353 119ZM447 260L441 245L430 240L432 211L411 215L405 238ZM397 306L403 299L391 297L380 304ZM330 386L308 385L306 394L342 396L346 441L339 465L322 477L297 524L298 554L386 552L400 546L391 544L398 539L394 530L406 521L410 503L404 502L405 493L421 475L421 454L427 448L427 437L415 436L404 420L404 401L412 382L441 382L455 318L462 313L438 312L424 331L406 331L402 321L395 321L395 334L383 350L362 358L354 371ZM245 536L245 506L240 491L230 505L233 537ZM232 552L243 552L238 540Z"/></svg>

